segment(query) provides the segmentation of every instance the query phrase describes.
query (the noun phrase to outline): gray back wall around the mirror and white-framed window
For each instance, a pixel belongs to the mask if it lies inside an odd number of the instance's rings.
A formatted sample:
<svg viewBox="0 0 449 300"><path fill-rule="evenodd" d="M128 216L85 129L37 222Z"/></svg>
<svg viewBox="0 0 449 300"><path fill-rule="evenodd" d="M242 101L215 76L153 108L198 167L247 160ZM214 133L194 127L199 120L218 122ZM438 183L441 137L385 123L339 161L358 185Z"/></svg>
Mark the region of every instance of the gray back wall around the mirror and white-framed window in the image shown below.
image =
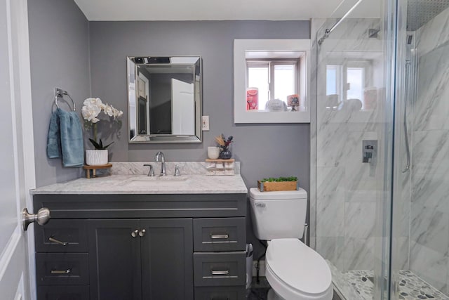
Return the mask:
<svg viewBox="0 0 449 300"><path fill-rule="evenodd" d="M248 188L267 176L298 176L309 191L309 124L234 124L234 39L309 39L309 21L91 22L92 96L125 112L126 56L202 56L203 115L210 131L199 144L128 144L126 126L110 148L112 161L148 162L162 150L172 161L202 161L214 137L234 136L232 152L241 162ZM249 207L248 207L249 215ZM248 218L248 240L261 253Z"/></svg>

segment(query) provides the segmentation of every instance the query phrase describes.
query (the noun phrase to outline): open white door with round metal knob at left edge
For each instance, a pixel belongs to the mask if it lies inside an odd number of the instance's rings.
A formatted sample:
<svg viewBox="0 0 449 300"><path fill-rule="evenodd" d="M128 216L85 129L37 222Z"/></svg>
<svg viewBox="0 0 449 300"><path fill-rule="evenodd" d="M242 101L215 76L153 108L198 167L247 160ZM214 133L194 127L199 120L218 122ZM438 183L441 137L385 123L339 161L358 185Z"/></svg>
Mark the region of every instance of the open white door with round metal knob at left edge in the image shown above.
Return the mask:
<svg viewBox="0 0 449 300"><path fill-rule="evenodd" d="M20 223L21 209L31 203L27 191L35 185L26 0L0 0L0 66L1 299L34 299L34 262L28 263Z"/></svg>

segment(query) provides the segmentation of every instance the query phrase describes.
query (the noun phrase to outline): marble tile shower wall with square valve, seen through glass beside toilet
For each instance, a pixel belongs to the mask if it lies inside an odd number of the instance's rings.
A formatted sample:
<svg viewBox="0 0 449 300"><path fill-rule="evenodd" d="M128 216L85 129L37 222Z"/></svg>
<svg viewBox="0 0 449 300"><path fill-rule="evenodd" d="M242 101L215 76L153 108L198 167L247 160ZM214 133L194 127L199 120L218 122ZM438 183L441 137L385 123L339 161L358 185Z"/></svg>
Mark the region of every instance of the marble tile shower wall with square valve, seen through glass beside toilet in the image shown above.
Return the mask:
<svg viewBox="0 0 449 300"><path fill-rule="evenodd" d="M312 27L313 27L312 22ZM315 22L317 24L317 21ZM335 20L320 20L318 39ZM326 106L326 65L344 64L349 60L370 62L371 86L382 94L382 32L368 37L369 29L380 29L377 19L344 21L316 46L316 129L312 129L312 145L316 145L316 249L340 270L373 270L377 226L377 196L383 182L382 153L377 162L362 162L362 141L382 140L382 99L372 110L336 110ZM313 37L316 39L316 37ZM314 80L314 79L312 79ZM313 151L313 149L312 149Z"/></svg>

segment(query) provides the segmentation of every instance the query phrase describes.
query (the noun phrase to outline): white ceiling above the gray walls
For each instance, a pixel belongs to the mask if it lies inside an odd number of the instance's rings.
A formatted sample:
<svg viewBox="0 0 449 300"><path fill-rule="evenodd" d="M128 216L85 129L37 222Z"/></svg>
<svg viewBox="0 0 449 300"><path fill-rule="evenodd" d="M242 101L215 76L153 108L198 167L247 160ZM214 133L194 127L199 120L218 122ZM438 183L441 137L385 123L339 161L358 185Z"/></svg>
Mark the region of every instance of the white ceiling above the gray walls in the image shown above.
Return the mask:
<svg viewBox="0 0 449 300"><path fill-rule="evenodd" d="M86 18L106 20L309 20L339 18L357 0L74 0ZM380 0L363 0L351 17L378 18Z"/></svg>

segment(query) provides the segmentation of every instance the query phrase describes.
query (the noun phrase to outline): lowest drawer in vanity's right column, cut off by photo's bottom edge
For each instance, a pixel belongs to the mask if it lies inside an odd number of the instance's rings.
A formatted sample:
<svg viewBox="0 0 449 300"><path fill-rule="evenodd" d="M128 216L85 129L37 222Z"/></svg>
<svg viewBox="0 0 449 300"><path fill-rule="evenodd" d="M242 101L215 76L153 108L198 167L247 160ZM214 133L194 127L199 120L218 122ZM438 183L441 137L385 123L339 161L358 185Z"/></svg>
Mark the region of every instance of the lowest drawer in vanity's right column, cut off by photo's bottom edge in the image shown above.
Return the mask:
<svg viewBox="0 0 449 300"><path fill-rule="evenodd" d="M240 287L195 287L195 300L244 300L246 289Z"/></svg>

